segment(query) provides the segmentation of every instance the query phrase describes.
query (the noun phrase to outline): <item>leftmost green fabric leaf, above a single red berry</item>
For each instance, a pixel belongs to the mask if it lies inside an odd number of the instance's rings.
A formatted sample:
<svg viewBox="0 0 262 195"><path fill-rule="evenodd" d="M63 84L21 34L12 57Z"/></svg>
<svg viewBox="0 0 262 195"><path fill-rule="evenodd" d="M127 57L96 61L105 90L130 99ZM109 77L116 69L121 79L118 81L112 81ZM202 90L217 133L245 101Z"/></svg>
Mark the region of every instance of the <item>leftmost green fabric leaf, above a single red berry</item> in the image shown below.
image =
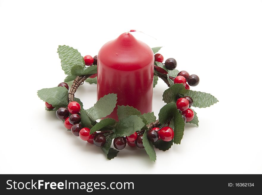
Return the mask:
<svg viewBox="0 0 262 195"><path fill-rule="evenodd" d="M65 87L44 88L37 91L38 97L55 108L67 107L68 90Z"/></svg>

